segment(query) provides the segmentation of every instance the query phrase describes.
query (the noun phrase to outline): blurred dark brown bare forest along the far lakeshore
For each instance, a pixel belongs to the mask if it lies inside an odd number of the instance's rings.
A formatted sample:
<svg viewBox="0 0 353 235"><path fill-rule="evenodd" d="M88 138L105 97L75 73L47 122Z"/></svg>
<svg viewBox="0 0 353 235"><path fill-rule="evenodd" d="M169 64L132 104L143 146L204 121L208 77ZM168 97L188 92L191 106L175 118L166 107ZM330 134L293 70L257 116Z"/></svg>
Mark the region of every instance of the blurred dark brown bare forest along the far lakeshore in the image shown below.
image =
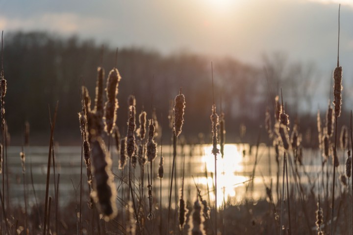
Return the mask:
<svg viewBox="0 0 353 235"><path fill-rule="evenodd" d="M102 45L76 36L62 38L46 32L5 34L3 63L8 84L5 107L9 132L16 137L14 144L21 144L26 120L30 123L31 135L43 136L36 144L47 144L44 140L49 136L48 105L53 111L57 101L56 140L62 144L78 144L80 86L83 83L87 86L94 101L97 67L105 69L106 79L115 63L122 76L117 120L122 135L126 135L127 97L134 94L137 113L144 107L151 115L151 107L156 109L166 138L163 142L168 143L170 100L181 86L186 98L183 134L188 141L195 142L198 134L204 133L205 141L209 142L213 102L211 61L215 103L218 113L222 103L228 142L256 141L250 137L257 136L263 126L266 107L274 113L273 100L279 84L288 88L285 97L291 117L298 111L299 100L311 103L306 92L308 85L302 81L308 76L314 79L314 71L301 65L284 65L280 56L264 58L264 70L231 57L210 58L188 52L161 55L154 50L131 47L119 48L117 60L115 55L115 48L105 46L102 53ZM313 123L311 126L308 123L308 128L315 131L315 118ZM247 126L249 133L244 140L239 139L241 124ZM262 139L267 141L268 138L264 135Z"/></svg>

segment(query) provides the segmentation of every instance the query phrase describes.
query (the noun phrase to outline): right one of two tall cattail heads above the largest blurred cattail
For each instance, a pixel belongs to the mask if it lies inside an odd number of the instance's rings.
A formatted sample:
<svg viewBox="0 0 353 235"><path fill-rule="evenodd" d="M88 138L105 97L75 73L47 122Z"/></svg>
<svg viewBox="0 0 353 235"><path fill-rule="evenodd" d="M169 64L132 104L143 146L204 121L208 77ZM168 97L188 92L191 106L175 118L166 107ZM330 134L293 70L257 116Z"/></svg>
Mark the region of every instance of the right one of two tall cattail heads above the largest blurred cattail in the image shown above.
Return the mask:
<svg viewBox="0 0 353 235"><path fill-rule="evenodd" d="M117 69L113 69L109 72L106 86L106 97L107 101L104 106L104 130L109 135L111 130L115 126L116 122L116 111L119 108L118 99L118 86L121 79L120 73Z"/></svg>

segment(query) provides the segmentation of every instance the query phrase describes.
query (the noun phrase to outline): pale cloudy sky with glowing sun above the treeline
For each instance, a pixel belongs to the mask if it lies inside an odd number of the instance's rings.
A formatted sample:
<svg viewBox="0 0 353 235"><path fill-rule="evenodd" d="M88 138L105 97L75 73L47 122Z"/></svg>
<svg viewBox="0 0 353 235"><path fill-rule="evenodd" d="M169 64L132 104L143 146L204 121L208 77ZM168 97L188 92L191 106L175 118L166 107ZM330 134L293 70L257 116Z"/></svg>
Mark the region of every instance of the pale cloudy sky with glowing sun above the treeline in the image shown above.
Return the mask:
<svg viewBox="0 0 353 235"><path fill-rule="evenodd" d="M350 78L353 0L0 0L0 30L76 34L111 47L187 50L254 65L279 51L329 77L339 3L340 62Z"/></svg>

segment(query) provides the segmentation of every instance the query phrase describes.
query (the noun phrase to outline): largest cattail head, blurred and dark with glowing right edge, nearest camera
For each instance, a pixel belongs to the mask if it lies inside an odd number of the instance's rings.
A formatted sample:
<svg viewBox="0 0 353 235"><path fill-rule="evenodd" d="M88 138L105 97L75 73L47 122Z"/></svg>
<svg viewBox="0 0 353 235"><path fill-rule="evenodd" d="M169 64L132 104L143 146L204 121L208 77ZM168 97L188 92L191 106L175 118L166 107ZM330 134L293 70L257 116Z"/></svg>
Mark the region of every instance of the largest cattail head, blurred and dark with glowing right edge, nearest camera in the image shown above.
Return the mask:
<svg viewBox="0 0 353 235"><path fill-rule="evenodd" d="M109 152L105 151L105 144L98 137L92 144L93 188L91 195L104 214L104 220L109 221L117 215L116 189L111 172L112 161Z"/></svg>

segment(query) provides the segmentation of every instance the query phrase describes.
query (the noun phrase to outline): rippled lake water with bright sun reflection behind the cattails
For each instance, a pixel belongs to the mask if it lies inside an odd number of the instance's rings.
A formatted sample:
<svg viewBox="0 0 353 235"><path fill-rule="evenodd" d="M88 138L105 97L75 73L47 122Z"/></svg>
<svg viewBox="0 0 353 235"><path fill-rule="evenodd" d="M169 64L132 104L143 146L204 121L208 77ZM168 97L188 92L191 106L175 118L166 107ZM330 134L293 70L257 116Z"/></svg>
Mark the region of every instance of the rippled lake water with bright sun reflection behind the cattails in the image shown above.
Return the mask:
<svg viewBox="0 0 353 235"><path fill-rule="evenodd" d="M208 201L214 202L214 156L211 154L211 145L185 145L183 148L177 148L176 157L176 188L181 187L181 176L182 176L182 165L183 157L185 156L185 181L184 181L184 195L186 199L194 200L196 197L196 187L194 184L194 177L196 184L200 187L203 197ZM30 180L30 162L32 163L33 181L34 187L37 193L39 201L43 201L45 197L46 188L46 172L47 172L47 161L48 161L48 147L28 147L25 148L26 153L26 183L29 203L34 203L32 185ZM245 150L245 155L243 155ZM276 180L277 180L277 164L275 161L274 149L268 148L265 145L260 145L257 153L257 166L255 169L255 177L253 180L253 187L249 187L248 191L246 188L249 185L249 180L252 178L252 171L255 162L256 147L252 146L250 152L250 146L248 144L226 144L225 156L222 158L220 155L217 157L217 188L218 195L217 201L220 207L223 202L231 204L237 204L244 201L244 199L252 198L258 200L259 198L266 197L265 185L268 187L273 182L273 196L277 198L276 194ZM270 150L270 153L269 153ZM13 204L23 204L23 178L22 178L22 167L20 153L21 147L11 146L8 148L8 167L9 167L9 183L10 183L10 199ZM160 156L160 147L158 147L158 157L153 163L153 195L155 200L159 201L159 179L157 179L158 163ZM59 184L59 200L60 203L65 204L69 200L75 198L75 187L78 186L80 180L80 156L81 148L59 146L55 149L55 164L56 174L60 173L60 184ZM343 154L343 153L342 153ZM270 156L270 159L269 159ZM342 155L341 155L342 156ZM169 187L170 187L170 169L172 165L172 147L170 145L163 146L163 157L164 157L164 178L162 180L162 204L168 205ZM291 155L292 158L292 155ZM340 157L340 168L338 172L344 172L344 158ZM112 171L117 175L121 176L122 171L118 169L119 156L115 147L112 148L112 160L113 168ZM271 162L271 164L270 164ZM317 179L317 172L321 172L322 157L319 151L305 149L303 151L303 163L304 166L298 168L299 172L303 175L301 177L304 185L308 184L309 179L311 182L315 182ZM280 176L279 184L281 185L282 179L282 164L280 162ZM83 163L84 165L84 163ZM271 166L271 167L270 167ZM83 166L83 187L87 188L86 184L86 171L85 165ZM139 164L135 170L135 181L140 177ZM126 167L127 169L128 167ZM271 173L270 173L271 168ZM290 166L288 165L289 171ZM207 177L206 177L207 171ZM307 174L304 176L303 172ZM147 193L147 165L145 166L145 193ZM290 172L289 172L290 174ZM127 173L126 173L127 175ZM50 194L53 195L53 175L51 168L50 176ZM290 178L291 180L291 178ZM115 179L116 185L120 185L120 180ZM293 181L292 181L293 182ZM291 184L291 183L290 183ZM118 196L122 193L126 193L126 188L120 187L118 190ZM174 187L173 187L174 188ZM208 188L208 189L207 189ZM124 192L125 190L125 192ZM209 192L209 193L207 193ZM77 194L77 196L79 196ZM175 193L173 192L173 196ZM172 199L175 202L175 199ZM212 205L212 203L211 203Z"/></svg>

